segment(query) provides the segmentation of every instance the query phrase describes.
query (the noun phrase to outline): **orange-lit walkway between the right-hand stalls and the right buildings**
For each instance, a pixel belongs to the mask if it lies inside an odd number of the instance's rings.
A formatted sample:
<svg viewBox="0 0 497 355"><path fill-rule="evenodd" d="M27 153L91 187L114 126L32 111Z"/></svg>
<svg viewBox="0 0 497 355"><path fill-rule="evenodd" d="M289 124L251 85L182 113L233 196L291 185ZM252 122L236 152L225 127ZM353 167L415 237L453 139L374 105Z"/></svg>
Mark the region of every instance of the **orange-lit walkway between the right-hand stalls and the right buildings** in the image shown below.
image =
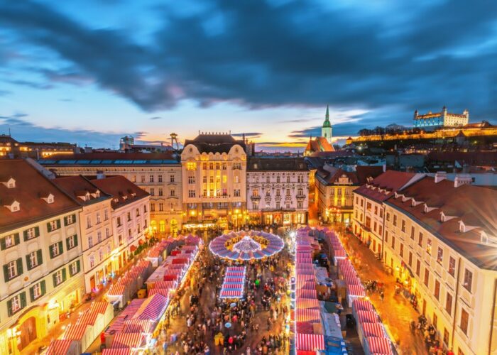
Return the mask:
<svg viewBox="0 0 497 355"><path fill-rule="evenodd" d="M421 335L411 332L409 327L411 320L417 321L419 313L403 295L395 295L395 278L386 273L381 261L354 234L342 232L341 236L342 244L351 256L362 282L376 280L385 285L383 300L378 293L369 297L393 341L398 344L400 354L427 354Z"/></svg>

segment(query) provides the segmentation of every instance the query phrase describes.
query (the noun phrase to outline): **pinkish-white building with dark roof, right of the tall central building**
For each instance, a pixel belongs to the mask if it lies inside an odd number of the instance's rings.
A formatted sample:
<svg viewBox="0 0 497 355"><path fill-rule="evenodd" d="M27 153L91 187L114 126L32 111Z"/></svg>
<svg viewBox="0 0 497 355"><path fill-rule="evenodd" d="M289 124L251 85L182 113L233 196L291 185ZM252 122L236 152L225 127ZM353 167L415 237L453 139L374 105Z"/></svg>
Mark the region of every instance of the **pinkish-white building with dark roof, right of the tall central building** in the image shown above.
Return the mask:
<svg viewBox="0 0 497 355"><path fill-rule="evenodd" d="M309 172L303 158L250 158L247 210L254 224L305 224Z"/></svg>

